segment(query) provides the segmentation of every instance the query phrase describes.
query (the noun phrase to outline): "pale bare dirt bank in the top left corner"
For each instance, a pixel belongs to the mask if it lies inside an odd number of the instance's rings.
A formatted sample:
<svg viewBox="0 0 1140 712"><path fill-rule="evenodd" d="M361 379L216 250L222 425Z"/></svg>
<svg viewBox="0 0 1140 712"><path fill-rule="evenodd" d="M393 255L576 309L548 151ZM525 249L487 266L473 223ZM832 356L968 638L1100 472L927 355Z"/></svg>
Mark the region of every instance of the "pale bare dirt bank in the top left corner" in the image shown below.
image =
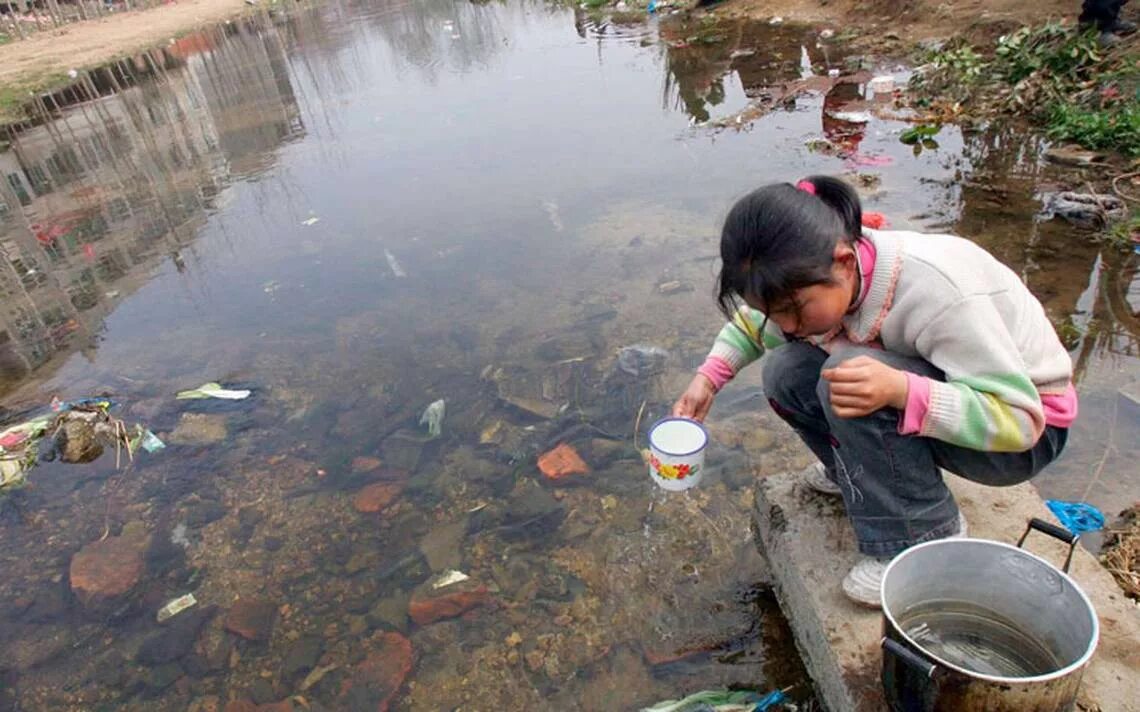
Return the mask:
<svg viewBox="0 0 1140 712"><path fill-rule="evenodd" d="M34 85L68 69L97 66L246 8L244 0L178 0L40 32L0 47L0 87Z"/></svg>

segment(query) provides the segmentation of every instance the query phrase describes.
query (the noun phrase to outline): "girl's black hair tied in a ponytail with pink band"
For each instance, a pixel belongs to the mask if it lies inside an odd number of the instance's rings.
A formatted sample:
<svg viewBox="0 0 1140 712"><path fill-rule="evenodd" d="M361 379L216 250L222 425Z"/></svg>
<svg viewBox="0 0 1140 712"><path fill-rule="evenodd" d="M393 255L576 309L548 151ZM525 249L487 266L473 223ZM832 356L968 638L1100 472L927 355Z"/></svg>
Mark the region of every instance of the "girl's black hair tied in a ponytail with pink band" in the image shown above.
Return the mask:
<svg viewBox="0 0 1140 712"><path fill-rule="evenodd" d="M830 283L836 244L854 243L862 223L858 194L829 175L746 195L720 230L717 306L732 320L746 295L771 308L797 289Z"/></svg>

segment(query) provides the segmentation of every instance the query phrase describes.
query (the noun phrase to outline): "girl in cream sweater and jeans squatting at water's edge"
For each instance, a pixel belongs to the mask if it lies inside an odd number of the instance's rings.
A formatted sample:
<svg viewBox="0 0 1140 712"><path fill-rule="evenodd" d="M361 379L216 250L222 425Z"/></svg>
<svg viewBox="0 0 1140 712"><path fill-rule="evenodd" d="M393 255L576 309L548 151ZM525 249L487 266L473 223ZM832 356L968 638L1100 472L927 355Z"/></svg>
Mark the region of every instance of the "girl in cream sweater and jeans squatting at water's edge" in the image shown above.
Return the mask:
<svg viewBox="0 0 1140 712"><path fill-rule="evenodd" d="M1065 447L1069 355L1017 275L974 243L864 229L854 189L812 177L741 198L720 260L728 324L673 412L703 419L771 351L768 402L820 460L807 484L844 498L864 555L842 583L856 603L879 605L903 549L966 534L939 468L1011 485Z"/></svg>

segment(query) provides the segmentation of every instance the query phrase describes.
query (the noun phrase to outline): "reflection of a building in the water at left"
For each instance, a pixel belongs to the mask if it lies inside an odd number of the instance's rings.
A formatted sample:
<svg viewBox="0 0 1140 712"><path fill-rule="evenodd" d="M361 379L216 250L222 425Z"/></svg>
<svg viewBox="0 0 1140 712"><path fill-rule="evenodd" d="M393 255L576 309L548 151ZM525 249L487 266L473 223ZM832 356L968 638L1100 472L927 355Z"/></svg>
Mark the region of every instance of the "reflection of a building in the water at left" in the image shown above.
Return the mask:
<svg viewBox="0 0 1140 712"><path fill-rule="evenodd" d="M0 390L93 349L165 256L186 269L231 178L304 132L268 16L108 67L39 113L0 153Z"/></svg>

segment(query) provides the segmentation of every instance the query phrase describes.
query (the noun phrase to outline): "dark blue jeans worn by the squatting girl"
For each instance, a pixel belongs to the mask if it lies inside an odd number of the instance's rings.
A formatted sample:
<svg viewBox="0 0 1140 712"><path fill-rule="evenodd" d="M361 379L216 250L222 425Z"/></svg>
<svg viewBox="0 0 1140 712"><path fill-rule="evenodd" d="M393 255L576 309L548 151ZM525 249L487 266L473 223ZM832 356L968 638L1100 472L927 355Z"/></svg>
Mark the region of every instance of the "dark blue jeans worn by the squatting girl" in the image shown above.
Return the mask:
<svg viewBox="0 0 1140 712"><path fill-rule="evenodd" d="M922 541L958 531L958 505L939 468L993 486L1029 480L1065 447L1067 428L1048 426L1025 452L985 452L933 437L899 435L899 411L883 408L862 418L831 410L824 368L869 355L893 368L943 379L942 371L917 358L866 346L832 354L793 342L764 357L764 390L772 408L795 428L842 490L860 551L891 557Z"/></svg>

